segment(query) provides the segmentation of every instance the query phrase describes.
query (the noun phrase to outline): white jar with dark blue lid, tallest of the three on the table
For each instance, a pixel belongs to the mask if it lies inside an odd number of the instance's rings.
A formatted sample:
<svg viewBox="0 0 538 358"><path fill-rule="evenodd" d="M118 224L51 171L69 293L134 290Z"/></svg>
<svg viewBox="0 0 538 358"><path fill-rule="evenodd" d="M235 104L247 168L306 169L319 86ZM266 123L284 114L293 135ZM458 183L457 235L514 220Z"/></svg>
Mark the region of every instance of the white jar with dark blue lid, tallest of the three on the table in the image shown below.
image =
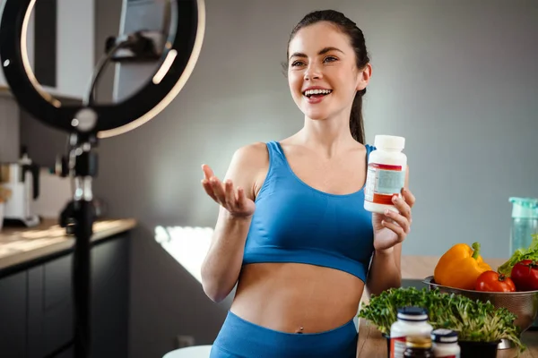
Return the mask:
<svg viewBox="0 0 538 358"><path fill-rule="evenodd" d="M407 337L430 338L433 328L428 323L428 314L421 307L398 309L397 319L390 328L390 358L403 358Z"/></svg>

